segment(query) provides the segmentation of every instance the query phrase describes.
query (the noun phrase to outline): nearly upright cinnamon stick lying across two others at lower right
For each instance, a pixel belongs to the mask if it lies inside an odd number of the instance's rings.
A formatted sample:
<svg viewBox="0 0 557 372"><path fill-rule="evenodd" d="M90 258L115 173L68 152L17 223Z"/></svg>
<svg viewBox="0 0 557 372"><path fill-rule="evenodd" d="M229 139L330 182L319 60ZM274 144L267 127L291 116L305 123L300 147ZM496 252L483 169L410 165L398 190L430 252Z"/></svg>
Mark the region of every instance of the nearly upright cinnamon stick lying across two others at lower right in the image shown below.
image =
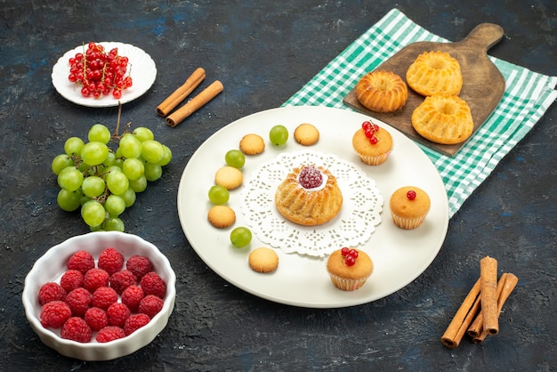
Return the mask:
<svg viewBox="0 0 557 372"><path fill-rule="evenodd" d="M483 329L489 335L499 332L497 313L497 260L486 256L480 260L481 313Z"/></svg>

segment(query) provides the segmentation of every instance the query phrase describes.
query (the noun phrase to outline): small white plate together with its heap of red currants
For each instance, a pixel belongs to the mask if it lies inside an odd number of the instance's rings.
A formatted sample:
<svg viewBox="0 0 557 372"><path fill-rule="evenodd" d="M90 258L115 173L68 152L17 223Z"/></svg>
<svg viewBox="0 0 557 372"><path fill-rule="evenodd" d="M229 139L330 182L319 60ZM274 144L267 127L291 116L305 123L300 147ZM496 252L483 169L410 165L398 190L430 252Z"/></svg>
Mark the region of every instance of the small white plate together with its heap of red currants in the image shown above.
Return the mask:
<svg viewBox="0 0 557 372"><path fill-rule="evenodd" d="M61 56L52 68L52 85L78 105L110 107L146 93L157 77L148 53L132 44L88 43Z"/></svg>

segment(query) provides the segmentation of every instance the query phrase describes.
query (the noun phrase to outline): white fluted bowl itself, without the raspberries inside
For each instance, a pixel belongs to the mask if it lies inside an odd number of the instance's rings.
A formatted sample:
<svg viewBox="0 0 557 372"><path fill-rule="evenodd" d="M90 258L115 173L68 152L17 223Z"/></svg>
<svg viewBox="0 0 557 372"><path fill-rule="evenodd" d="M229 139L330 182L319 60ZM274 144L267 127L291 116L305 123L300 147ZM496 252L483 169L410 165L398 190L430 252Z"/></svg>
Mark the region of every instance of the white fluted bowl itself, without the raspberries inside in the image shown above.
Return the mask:
<svg viewBox="0 0 557 372"><path fill-rule="evenodd" d="M40 322L41 305L38 303L39 288L48 281L60 282L62 274L67 271L69 257L79 250L86 250L96 260L101 252L114 247L121 252L125 260L132 255L145 255L153 263L154 271L166 282L166 295L163 309L149 321L149 324L109 343L82 344L63 339L60 329L44 328ZM157 247L138 236L117 231L91 232L70 238L50 248L39 258L25 279L22 301L25 315L41 341L52 349L70 358L78 360L113 360L136 352L149 344L166 327L168 318L174 309L176 296L176 276L168 262Z"/></svg>

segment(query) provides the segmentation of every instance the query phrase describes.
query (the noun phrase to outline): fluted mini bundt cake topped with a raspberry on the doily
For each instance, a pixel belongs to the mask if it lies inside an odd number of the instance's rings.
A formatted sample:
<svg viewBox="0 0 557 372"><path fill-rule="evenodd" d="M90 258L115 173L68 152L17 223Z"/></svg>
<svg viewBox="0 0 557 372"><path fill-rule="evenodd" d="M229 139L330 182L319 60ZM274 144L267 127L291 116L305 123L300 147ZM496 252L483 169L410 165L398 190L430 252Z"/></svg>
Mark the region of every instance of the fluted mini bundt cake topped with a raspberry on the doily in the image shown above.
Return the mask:
<svg viewBox="0 0 557 372"><path fill-rule="evenodd" d="M343 193L328 169L303 165L278 185L275 205L287 220L314 226L335 218L343 206Z"/></svg>

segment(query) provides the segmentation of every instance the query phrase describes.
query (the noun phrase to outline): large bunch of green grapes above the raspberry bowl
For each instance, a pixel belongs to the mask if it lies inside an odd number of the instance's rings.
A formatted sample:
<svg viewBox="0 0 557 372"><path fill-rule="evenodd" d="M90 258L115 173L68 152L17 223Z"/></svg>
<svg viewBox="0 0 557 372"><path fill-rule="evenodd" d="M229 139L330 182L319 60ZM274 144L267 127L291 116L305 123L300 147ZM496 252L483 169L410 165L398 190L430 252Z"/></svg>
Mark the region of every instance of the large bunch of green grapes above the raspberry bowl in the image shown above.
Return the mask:
<svg viewBox="0 0 557 372"><path fill-rule="evenodd" d="M162 176L172 151L142 126L117 135L106 125L95 124L87 140L69 137L64 153L52 159L52 172L61 188L58 206L68 212L81 208L81 217L92 231L124 231L120 215L133 206L136 194L148 182Z"/></svg>

